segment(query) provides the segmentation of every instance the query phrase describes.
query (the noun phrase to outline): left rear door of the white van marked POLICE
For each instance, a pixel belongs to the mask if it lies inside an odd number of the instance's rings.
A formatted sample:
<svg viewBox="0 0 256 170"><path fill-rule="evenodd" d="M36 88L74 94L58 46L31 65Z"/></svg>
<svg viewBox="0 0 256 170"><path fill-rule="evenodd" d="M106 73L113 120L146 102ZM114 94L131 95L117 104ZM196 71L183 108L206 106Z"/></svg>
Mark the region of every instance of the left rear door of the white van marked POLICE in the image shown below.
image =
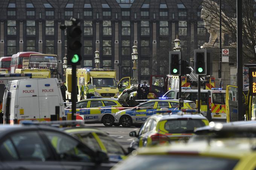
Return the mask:
<svg viewBox="0 0 256 170"><path fill-rule="evenodd" d="M23 119L39 119L40 116L37 80L20 80L17 90L17 106L15 107L18 107L18 121Z"/></svg>

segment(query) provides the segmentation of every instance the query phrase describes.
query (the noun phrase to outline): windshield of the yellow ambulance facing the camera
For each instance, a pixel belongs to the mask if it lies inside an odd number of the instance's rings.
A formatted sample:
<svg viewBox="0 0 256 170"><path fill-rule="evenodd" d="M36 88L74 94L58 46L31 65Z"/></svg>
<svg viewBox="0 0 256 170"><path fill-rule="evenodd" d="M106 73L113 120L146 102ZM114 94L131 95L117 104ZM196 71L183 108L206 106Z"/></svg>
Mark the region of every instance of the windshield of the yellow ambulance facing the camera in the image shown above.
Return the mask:
<svg viewBox="0 0 256 170"><path fill-rule="evenodd" d="M93 78L95 87L117 87L115 78Z"/></svg>

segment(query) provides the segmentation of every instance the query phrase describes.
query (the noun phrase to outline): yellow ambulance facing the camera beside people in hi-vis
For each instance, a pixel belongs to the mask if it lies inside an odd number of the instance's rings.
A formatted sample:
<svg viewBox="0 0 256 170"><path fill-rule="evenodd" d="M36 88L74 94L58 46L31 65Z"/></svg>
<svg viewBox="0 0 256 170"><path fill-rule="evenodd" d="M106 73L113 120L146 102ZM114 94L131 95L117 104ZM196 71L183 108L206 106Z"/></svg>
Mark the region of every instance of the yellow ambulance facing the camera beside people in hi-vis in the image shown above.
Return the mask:
<svg viewBox="0 0 256 170"><path fill-rule="evenodd" d="M72 81L72 69L66 69L66 83L67 91L71 91L72 86L70 86ZM126 80L127 84L124 86L117 86L116 83L116 70L113 69L88 69L81 68L76 69L77 86L79 90L79 95L81 94L81 89L84 89L84 94L86 95L85 89L87 82L90 81L94 86L94 95L102 98L117 98L119 96L119 91L126 88L130 88L131 80L130 77L122 78L120 82ZM119 83L120 84L120 83ZM83 87L83 88L82 88ZM71 99L71 93L67 92L68 98ZM79 96L81 97L81 96Z"/></svg>

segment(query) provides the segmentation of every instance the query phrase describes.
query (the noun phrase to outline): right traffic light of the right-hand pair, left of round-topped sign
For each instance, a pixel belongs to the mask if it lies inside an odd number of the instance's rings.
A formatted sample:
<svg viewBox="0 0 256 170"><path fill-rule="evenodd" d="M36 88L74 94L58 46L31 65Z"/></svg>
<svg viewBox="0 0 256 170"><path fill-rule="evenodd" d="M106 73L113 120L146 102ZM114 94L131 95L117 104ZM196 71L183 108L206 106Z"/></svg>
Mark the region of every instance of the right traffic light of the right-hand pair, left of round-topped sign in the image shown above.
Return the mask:
<svg viewBox="0 0 256 170"><path fill-rule="evenodd" d="M207 56L206 50L194 50L194 73L197 75L207 75Z"/></svg>

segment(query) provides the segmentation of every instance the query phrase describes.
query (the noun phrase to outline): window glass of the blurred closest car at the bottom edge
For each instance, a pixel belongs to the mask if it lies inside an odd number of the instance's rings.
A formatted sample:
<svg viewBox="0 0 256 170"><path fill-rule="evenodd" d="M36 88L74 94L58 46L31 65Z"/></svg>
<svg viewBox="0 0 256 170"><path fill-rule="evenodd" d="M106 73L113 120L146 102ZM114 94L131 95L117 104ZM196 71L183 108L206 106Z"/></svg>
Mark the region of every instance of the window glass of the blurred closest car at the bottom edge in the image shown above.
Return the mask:
<svg viewBox="0 0 256 170"><path fill-rule="evenodd" d="M115 170L230 170L238 160L209 156L139 155L131 156Z"/></svg>

